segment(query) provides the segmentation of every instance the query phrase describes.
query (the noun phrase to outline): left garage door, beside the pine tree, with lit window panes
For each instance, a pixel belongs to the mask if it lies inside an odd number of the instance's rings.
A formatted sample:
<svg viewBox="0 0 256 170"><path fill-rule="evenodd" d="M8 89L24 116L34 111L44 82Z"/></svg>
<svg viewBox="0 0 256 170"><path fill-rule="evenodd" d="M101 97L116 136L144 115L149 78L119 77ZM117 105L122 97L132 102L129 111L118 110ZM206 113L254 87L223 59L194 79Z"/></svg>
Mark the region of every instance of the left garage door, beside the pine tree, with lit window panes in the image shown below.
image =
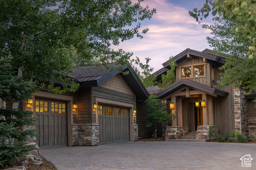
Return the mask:
<svg viewBox="0 0 256 170"><path fill-rule="evenodd" d="M40 149L67 146L66 103L35 99L36 143Z"/></svg>

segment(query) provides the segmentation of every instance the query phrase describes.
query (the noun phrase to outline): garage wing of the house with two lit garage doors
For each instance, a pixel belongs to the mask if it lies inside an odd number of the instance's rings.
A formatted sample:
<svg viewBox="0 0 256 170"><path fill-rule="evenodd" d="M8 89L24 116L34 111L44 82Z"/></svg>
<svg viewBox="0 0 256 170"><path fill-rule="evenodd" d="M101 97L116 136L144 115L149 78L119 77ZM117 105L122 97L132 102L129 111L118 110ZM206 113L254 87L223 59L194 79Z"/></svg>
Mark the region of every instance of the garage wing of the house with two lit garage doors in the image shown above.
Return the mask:
<svg viewBox="0 0 256 170"><path fill-rule="evenodd" d="M114 70L73 67L68 76L80 84L76 92L36 92L30 104L24 103L24 110L34 111L39 118L36 143L40 149L138 140L136 103L144 102L149 94L131 66L124 66L126 75L118 71L118 65L108 66Z"/></svg>

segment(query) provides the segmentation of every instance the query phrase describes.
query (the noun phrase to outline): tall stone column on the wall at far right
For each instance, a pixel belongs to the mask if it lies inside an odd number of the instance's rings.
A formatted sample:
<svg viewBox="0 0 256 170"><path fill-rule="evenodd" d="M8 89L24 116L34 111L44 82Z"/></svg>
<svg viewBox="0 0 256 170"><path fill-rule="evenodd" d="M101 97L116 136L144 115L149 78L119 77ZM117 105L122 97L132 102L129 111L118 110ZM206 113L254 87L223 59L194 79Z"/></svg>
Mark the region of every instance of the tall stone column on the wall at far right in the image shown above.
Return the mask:
<svg viewBox="0 0 256 170"><path fill-rule="evenodd" d="M248 137L248 104L246 91L234 89L235 131Z"/></svg>

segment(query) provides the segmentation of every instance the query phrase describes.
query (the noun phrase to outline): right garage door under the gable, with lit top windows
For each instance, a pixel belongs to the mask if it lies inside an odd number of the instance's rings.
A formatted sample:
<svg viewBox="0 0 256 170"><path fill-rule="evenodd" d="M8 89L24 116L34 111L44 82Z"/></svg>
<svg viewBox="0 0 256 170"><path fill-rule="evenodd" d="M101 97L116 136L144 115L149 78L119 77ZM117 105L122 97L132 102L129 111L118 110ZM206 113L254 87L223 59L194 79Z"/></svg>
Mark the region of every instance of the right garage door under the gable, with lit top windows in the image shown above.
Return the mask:
<svg viewBox="0 0 256 170"><path fill-rule="evenodd" d="M129 109L98 104L99 144L130 141Z"/></svg>

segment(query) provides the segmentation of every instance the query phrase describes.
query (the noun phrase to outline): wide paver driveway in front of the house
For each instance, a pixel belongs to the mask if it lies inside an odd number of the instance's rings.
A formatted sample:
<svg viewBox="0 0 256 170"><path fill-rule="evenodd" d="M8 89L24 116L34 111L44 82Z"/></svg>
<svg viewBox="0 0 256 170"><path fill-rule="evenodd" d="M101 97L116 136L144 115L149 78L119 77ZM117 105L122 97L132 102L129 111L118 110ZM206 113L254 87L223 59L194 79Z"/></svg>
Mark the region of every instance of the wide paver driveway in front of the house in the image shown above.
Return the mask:
<svg viewBox="0 0 256 170"><path fill-rule="evenodd" d="M60 170L256 169L256 145L206 142L125 142L39 150ZM241 166L250 154L251 168Z"/></svg>

